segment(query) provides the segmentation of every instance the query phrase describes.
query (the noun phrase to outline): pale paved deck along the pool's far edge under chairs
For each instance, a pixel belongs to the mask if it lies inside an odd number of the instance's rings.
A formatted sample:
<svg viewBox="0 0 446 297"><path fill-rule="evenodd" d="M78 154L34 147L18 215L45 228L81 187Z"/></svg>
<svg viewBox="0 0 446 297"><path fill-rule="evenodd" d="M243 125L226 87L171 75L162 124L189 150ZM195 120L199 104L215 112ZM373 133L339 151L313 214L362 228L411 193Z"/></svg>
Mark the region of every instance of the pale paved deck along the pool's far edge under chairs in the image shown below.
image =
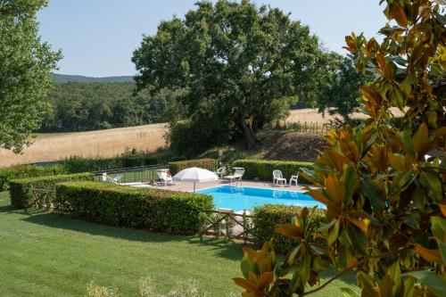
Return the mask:
<svg viewBox="0 0 446 297"><path fill-rule="evenodd" d="M166 189L166 190L172 190L172 191L181 191L181 192L192 192L194 190L194 183L186 183L186 182L174 182L175 185L168 185L168 186L156 186L159 189ZM221 180L208 182L208 183L195 183L195 191L206 189L214 186L224 186L224 185L230 185L229 181L227 180ZM235 186L251 186L251 187L259 187L262 189L276 189L276 190L286 190L286 191L298 191L298 192L305 192L308 189L308 186L277 186L274 185L270 181L252 181L252 180L244 180L242 184L238 183Z"/></svg>

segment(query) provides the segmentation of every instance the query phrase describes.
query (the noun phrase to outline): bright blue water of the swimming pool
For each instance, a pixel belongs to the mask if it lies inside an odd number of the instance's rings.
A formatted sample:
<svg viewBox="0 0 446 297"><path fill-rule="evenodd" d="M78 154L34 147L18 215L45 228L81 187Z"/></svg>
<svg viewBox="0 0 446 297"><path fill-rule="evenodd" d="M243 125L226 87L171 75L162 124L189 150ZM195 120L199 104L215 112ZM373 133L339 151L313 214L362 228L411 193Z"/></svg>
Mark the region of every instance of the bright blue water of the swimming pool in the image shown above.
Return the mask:
<svg viewBox="0 0 446 297"><path fill-rule="evenodd" d="M310 195L285 190L260 189L246 186L215 186L196 191L196 193L211 194L216 208L234 211L252 210L255 206L263 204L326 208L324 204L315 201Z"/></svg>

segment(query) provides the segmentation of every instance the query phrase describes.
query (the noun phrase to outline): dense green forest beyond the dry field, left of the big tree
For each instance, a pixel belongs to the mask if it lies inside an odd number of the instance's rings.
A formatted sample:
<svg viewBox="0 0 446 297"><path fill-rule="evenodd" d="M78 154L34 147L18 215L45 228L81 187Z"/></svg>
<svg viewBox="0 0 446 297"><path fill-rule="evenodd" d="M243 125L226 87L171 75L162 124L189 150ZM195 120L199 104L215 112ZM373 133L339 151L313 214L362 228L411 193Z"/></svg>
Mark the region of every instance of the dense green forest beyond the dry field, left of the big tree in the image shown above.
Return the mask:
<svg viewBox="0 0 446 297"><path fill-rule="evenodd" d="M39 132L74 132L156 123L178 93L163 90L151 97L134 82L54 83L48 94L52 111Z"/></svg>

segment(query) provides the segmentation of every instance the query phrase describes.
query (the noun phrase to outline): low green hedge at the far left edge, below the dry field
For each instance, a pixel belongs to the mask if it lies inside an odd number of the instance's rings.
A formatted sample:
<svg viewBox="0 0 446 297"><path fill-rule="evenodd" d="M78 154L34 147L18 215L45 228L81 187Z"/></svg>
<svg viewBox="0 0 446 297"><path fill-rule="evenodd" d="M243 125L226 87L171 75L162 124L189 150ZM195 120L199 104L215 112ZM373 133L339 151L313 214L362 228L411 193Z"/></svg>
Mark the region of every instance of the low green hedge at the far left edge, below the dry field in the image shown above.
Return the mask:
<svg viewBox="0 0 446 297"><path fill-rule="evenodd" d="M9 189L9 181L27 177L45 177L65 174L67 170L60 164L52 166L20 165L0 169L0 192Z"/></svg>

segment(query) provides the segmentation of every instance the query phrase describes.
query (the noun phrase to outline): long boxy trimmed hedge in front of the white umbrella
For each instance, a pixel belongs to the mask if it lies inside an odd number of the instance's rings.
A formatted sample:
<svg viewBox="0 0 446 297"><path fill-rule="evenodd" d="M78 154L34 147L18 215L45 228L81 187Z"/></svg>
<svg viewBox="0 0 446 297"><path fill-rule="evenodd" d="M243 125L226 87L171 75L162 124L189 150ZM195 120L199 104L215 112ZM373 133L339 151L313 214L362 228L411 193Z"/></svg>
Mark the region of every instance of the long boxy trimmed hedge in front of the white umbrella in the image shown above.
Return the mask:
<svg viewBox="0 0 446 297"><path fill-rule="evenodd" d="M210 195L69 182L56 186L55 210L110 226L138 227L169 234L194 234L212 210Z"/></svg>

